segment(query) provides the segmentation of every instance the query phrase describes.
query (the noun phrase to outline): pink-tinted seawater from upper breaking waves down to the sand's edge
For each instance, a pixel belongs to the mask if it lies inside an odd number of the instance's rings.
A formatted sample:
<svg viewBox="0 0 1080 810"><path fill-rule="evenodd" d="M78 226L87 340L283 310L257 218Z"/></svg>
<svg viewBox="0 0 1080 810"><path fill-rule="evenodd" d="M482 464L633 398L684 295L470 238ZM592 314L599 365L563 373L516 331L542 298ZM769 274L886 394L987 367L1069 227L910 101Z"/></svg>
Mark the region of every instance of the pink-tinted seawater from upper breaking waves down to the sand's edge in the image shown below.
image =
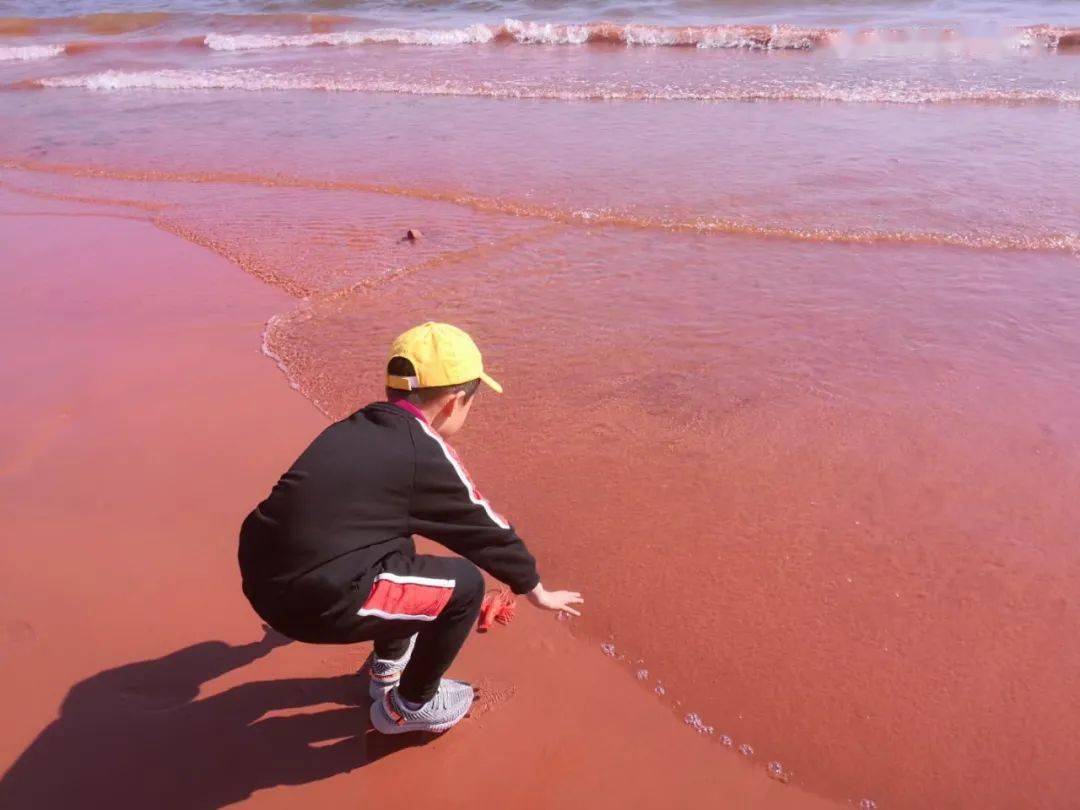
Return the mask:
<svg viewBox="0 0 1080 810"><path fill-rule="evenodd" d="M266 349L332 416L401 329L473 332L472 472L712 739L855 802L1068 807L1080 62L1011 36L129 37L4 68L0 183L292 293Z"/></svg>

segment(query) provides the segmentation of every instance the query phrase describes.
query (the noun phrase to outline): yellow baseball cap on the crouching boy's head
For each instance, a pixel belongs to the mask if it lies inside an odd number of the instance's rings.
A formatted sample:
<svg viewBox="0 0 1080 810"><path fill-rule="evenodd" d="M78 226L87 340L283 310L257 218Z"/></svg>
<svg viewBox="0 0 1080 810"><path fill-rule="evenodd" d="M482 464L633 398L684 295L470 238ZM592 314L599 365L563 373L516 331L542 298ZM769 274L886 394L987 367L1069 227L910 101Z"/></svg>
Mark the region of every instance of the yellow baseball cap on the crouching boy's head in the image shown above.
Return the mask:
<svg viewBox="0 0 1080 810"><path fill-rule="evenodd" d="M415 377L387 375L387 387L397 391L459 386L478 377L502 393L502 386L484 373L484 360L473 339L448 323L429 321L399 335L390 347L390 359L394 357L405 357L416 369Z"/></svg>

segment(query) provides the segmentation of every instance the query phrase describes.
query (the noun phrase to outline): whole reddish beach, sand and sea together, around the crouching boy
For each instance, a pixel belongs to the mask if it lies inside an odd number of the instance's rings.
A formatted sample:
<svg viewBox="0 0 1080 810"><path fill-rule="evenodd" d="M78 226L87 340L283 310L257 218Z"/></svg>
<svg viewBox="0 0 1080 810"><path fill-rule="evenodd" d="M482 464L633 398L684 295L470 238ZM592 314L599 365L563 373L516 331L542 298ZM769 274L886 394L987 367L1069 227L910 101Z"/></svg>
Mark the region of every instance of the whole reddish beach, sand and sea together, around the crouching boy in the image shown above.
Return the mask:
<svg viewBox="0 0 1080 810"><path fill-rule="evenodd" d="M159 5L0 5L0 805L1075 805L1069 6ZM391 750L235 534L426 320L586 609Z"/></svg>

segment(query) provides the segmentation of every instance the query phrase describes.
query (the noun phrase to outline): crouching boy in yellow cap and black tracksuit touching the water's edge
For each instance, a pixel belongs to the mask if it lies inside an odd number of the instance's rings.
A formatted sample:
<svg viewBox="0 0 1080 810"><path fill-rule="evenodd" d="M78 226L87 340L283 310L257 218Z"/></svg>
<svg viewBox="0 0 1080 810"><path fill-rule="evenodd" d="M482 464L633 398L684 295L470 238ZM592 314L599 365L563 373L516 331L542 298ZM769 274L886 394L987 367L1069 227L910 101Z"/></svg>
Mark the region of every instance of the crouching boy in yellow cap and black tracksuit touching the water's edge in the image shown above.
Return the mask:
<svg viewBox="0 0 1080 810"><path fill-rule="evenodd" d="M469 711L472 687L443 674L484 597L473 564L538 607L579 616L581 595L544 590L445 442L481 381L502 392L464 332L409 329L391 348L388 402L324 430L240 530L244 594L270 626L311 644L375 642L372 725L382 733L445 731ZM414 534L464 559L418 555Z"/></svg>

